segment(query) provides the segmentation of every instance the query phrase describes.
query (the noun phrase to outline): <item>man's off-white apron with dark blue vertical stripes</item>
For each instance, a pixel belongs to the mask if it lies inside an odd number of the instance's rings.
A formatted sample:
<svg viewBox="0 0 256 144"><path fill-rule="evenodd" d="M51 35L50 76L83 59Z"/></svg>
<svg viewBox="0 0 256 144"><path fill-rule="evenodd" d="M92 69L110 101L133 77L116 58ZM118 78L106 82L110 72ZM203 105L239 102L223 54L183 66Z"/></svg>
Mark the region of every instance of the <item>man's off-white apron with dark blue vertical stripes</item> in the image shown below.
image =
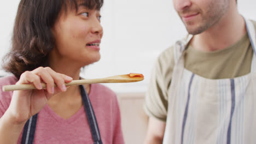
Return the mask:
<svg viewBox="0 0 256 144"><path fill-rule="evenodd" d="M256 143L256 36L246 20L254 50L251 73L234 79L206 79L184 68L186 41L174 48L164 143Z"/></svg>

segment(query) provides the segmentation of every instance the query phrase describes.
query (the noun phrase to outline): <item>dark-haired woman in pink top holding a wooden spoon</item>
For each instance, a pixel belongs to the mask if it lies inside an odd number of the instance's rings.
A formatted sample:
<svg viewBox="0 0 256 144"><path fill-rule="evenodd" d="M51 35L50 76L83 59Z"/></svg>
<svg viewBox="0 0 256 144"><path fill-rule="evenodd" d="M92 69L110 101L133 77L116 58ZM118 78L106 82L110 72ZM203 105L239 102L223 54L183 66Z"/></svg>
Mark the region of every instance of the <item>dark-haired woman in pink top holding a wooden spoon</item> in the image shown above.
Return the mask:
<svg viewBox="0 0 256 144"><path fill-rule="evenodd" d="M117 97L110 89L65 86L100 59L102 4L21 0L4 65L13 76L1 78L0 85L32 83L37 89L1 88L0 143L124 143Z"/></svg>

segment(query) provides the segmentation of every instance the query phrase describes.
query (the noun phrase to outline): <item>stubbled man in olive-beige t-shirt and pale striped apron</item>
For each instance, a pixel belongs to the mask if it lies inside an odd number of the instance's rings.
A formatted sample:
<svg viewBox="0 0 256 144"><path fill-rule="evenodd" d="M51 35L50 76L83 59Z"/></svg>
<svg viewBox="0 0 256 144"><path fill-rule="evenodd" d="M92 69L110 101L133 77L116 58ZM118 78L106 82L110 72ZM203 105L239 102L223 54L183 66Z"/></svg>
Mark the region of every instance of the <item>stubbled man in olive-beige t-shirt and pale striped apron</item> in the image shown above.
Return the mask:
<svg viewBox="0 0 256 144"><path fill-rule="evenodd" d="M145 143L255 143L256 22L236 0L173 5L190 35L156 62Z"/></svg>

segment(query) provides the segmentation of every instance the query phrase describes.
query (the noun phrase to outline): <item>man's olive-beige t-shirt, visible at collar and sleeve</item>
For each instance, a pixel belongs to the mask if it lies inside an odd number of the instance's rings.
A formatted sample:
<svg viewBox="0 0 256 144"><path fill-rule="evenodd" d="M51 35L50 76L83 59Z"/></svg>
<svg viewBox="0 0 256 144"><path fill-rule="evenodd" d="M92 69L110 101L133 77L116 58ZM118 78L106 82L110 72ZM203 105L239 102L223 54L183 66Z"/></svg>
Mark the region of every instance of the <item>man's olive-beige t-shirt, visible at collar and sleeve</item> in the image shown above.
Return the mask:
<svg viewBox="0 0 256 144"><path fill-rule="evenodd" d="M256 22L253 23L256 29ZM207 79L230 79L250 73L253 49L246 34L237 43L223 50L202 52L188 46L183 56L185 69L197 75ZM162 52L156 61L144 103L146 113L161 121L166 121L167 117L167 92L173 67L172 46Z"/></svg>

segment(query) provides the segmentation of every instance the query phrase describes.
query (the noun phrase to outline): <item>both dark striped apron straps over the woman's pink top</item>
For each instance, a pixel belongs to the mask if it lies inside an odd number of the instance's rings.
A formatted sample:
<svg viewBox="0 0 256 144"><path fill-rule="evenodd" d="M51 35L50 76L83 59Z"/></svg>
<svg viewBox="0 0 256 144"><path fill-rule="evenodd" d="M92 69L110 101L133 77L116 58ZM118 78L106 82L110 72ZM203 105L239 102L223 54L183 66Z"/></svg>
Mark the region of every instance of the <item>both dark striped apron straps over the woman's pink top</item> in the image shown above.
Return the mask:
<svg viewBox="0 0 256 144"><path fill-rule="evenodd" d="M94 110L92 109L91 101L88 94L85 91L83 85L80 85L81 96L84 104L84 109L89 122L92 139L94 144L102 144L100 130L98 129L97 120ZM21 144L32 144L34 140L34 133L36 131L37 115L32 116L25 124Z"/></svg>

